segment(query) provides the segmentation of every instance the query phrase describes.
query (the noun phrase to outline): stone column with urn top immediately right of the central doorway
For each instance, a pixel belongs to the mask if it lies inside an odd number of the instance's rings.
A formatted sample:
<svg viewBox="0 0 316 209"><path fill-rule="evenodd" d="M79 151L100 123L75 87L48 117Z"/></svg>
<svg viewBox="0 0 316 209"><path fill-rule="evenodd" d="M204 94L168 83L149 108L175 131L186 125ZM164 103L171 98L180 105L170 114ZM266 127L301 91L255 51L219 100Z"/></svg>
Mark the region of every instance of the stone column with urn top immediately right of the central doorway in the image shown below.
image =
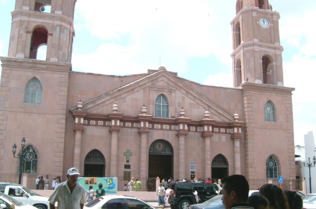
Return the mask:
<svg viewBox="0 0 316 209"><path fill-rule="evenodd" d="M183 107L180 110L181 117L176 119L176 124L179 126L176 136L179 137L179 180L185 178L185 136L188 135L188 123L191 118L184 117L185 110Z"/></svg>

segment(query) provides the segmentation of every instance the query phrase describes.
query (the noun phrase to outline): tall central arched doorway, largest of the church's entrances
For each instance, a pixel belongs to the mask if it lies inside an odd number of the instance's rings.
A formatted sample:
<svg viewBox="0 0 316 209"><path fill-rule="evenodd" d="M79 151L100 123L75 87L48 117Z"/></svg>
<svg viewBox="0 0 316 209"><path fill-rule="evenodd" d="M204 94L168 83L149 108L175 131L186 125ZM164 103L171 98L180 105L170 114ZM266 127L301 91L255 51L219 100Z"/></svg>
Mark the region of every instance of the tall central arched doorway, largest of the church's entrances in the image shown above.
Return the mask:
<svg viewBox="0 0 316 209"><path fill-rule="evenodd" d="M156 140L149 146L148 177L173 178L173 148L165 140Z"/></svg>

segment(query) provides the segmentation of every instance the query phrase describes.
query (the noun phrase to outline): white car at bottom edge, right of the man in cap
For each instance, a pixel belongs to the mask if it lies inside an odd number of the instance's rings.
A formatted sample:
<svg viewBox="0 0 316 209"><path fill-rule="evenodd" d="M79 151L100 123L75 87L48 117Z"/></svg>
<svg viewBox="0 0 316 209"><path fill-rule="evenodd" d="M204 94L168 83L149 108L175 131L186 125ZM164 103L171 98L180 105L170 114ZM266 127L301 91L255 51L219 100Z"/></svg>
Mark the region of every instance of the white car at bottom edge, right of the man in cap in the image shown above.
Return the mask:
<svg viewBox="0 0 316 209"><path fill-rule="evenodd" d="M136 197L125 196L125 195L106 195L98 197L91 202L88 202L83 207L85 209L156 209L148 203L140 200Z"/></svg>

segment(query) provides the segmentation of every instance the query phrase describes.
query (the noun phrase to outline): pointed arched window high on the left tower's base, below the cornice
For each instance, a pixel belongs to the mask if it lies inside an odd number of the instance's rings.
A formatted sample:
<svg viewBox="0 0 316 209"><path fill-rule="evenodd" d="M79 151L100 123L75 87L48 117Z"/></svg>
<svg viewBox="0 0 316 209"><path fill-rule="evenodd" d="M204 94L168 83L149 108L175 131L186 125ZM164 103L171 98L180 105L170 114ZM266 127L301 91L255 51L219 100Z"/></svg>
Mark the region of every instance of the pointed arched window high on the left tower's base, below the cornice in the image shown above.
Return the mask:
<svg viewBox="0 0 316 209"><path fill-rule="evenodd" d="M27 82L24 90L24 103L41 104L43 86L39 79L32 78Z"/></svg>

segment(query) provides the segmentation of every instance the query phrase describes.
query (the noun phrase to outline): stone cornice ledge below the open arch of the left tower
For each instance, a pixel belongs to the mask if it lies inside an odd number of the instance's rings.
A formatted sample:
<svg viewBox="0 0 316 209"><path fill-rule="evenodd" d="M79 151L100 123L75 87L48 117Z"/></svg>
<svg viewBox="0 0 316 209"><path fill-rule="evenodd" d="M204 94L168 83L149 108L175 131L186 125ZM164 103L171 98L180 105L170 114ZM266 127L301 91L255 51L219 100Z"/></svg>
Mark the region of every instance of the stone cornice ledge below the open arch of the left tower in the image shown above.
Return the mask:
<svg viewBox="0 0 316 209"><path fill-rule="evenodd" d="M2 62L2 69L5 66L21 68L21 70L25 68L29 69L38 69L38 70L52 70L52 71L71 71L71 63L66 62L51 62L44 60L34 60L27 58L16 58L16 57L0 57Z"/></svg>

